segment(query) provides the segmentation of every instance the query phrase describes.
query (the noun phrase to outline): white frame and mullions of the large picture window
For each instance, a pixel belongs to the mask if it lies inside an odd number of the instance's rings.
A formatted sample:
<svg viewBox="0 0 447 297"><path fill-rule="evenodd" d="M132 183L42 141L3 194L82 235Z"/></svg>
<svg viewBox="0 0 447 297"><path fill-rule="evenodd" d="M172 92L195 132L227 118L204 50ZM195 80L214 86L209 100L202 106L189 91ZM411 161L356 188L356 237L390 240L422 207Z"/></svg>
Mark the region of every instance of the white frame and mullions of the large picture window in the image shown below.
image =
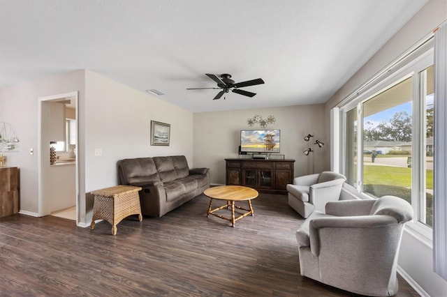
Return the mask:
<svg viewBox="0 0 447 297"><path fill-rule="evenodd" d="M405 62L405 63L404 63ZM404 81L404 79L408 79L412 77L412 149L413 149L413 170L412 170L412 194L411 194L411 206L413 207L414 215L413 220L407 224L409 229L412 229L416 234L420 234L422 236L423 242L427 245L432 246L432 227L427 226L426 224L419 222L420 218L420 195L421 190L425 188L425 183L421 185L425 181L425 173L421 172L421 170L425 169L425 166L422 164L423 158L421 157L421 153L425 153L425 146L422 142L423 127L421 125L425 125L425 121L423 121L422 116L425 112L425 98L421 98L423 95L423 90L419 87L421 79L424 77L420 77L419 73L423 72L426 68L432 66L434 64L434 45L432 42L432 38L427 40L427 43L421 45L420 49L416 50L415 53L412 53L404 59L402 63L397 63L400 65L392 65L388 67L388 70L384 72L382 77L376 79L375 82L369 83L367 87L362 89L362 92L355 93L351 98L346 98L342 105L339 105L339 132L341 136L340 140L340 152L339 157L341 159L340 162L340 172L346 175L346 112L349 112L353 108L357 108L357 144L356 149L357 152L362 152L363 146L363 119L362 119L362 104L367 100L374 98L374 96L390 89L391 87L399 84ZM421 123L422 121L422 123ZM337 125L337 123L333 123ZM415 158L416 156L416 158ZM372 199L370 195L367 195L365 192L362 192L362 176L363 176L363 168L362 162L357 162L357 184L355 186L346 184L346 191L351 193L352 195L359 197L360 199ZM420 237L420 236L418 236Z"/></svg>

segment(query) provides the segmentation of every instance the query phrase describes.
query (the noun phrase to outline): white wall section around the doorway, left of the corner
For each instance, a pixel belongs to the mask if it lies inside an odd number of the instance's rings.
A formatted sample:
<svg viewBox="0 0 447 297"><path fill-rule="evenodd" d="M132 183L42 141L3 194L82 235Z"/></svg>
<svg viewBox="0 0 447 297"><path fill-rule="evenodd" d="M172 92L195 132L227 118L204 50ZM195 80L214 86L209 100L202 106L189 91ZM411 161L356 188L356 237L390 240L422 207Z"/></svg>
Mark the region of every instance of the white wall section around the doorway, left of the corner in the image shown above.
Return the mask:
<svg viewBox="0 0 447 297"><path fill-rule="evenodd" d="M38 98L80 91L83 100L83 90L83 70L0 89L0 121L10 123L20 140L18 153L4 154L8 166L20 170L20 211L38 213Z"/></svg>

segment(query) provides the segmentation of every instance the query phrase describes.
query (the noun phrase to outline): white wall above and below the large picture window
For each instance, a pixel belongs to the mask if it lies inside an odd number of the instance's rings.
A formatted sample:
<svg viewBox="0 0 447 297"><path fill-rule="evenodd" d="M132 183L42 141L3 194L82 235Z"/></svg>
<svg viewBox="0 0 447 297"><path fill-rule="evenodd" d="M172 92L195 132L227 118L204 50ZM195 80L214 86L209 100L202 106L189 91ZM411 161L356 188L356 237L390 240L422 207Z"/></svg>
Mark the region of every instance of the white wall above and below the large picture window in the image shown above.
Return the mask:
<svg viewBox="0 0 447 297"><path fill-rule="evenodd" d="M362 83L372 77L379 70L385 68L388 63L395 60L400 54L408 50L418 40L426 36L447 18L447 1L430 0L415 17L413 17L402 29L363 66L356 75L351 77L346 84L335 93L325 105L325 119L330 118L330 109L351 92L355 91ZM325 130L330 133L330 121L327 121ZM329 134L328 134L329 135ZM432 247L420 241L404 231L400 257L398 262L410 281L416 282L430 296L446 296L447 282L433 273Z"/></svg>

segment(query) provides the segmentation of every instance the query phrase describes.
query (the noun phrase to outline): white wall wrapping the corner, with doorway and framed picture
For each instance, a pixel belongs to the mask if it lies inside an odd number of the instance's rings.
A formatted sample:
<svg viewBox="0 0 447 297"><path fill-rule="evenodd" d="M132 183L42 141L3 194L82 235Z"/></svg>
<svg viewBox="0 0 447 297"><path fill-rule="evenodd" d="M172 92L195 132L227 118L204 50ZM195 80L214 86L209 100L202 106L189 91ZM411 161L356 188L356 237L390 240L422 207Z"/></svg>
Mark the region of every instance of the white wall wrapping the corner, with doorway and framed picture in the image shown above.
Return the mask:
<svg viewBox="0 0 447 297"><path fill-rule="evenodd" d="M80 224L91 220L89 192L117 185L117 160L185 155L193 165L193 114L89 70L78 70L0 89L0 121L20 139L19 153L5 153L20 168L20 211L38 213L38 98L79 91L78 162ZM150 121L170 123L170 146L150 146ZM34 154L29 153L30 148ZM103 155L96 157L95 148ZM85 194L87 193L87 195Z"/></svg>

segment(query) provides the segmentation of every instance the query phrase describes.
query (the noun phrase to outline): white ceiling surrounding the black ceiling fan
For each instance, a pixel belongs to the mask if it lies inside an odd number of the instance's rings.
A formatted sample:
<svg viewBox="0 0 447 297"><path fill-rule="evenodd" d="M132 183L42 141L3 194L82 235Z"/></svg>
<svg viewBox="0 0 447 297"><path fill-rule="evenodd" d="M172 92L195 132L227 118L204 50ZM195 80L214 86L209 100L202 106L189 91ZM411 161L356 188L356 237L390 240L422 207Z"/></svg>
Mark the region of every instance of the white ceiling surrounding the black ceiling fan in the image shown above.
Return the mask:
<svg viewBox="0 0 447 297"><path fill-rule="evenodd" d="M86 68L191 112L322 103L426 2L0 0L0 87ZM186 91L205 73L265 84Z"/></svg>

